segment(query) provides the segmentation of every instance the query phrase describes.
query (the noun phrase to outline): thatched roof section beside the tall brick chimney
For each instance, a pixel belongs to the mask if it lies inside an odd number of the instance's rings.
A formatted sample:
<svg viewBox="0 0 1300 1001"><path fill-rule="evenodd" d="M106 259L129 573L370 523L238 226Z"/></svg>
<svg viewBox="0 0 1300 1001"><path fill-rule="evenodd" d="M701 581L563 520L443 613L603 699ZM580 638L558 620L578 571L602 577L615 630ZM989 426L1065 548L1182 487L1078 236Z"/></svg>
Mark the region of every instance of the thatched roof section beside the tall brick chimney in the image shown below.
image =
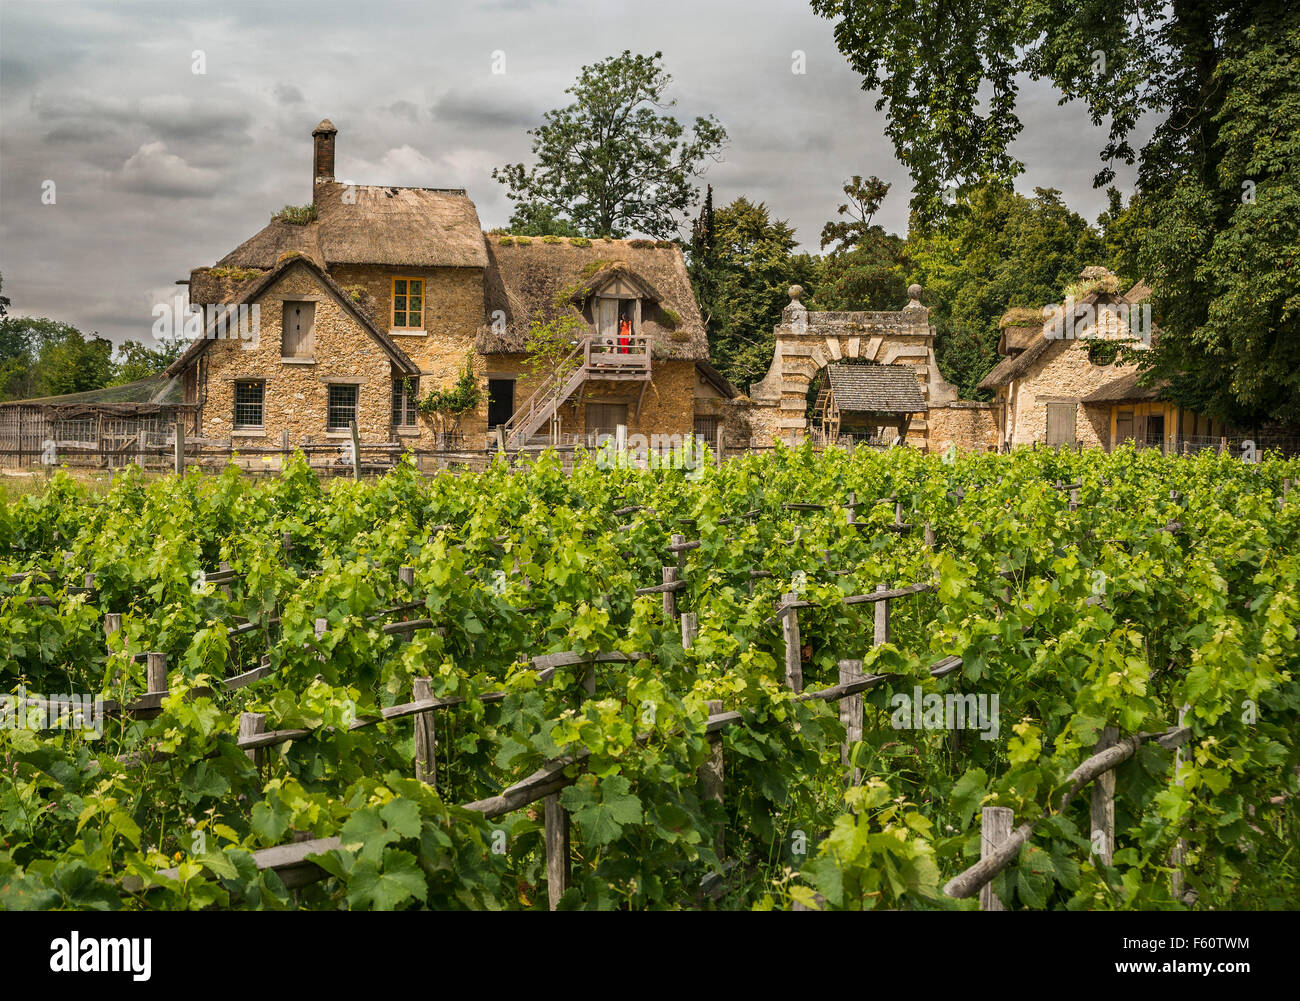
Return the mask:
<svg viewBox="0 0 1300 1001"><path fill-rule="evenodd" d="M272 220L217 261L218 268L274 268L287 251L317 264L482 268L478 213L463 188L381 187L321 181L316 218Z"/></svg>

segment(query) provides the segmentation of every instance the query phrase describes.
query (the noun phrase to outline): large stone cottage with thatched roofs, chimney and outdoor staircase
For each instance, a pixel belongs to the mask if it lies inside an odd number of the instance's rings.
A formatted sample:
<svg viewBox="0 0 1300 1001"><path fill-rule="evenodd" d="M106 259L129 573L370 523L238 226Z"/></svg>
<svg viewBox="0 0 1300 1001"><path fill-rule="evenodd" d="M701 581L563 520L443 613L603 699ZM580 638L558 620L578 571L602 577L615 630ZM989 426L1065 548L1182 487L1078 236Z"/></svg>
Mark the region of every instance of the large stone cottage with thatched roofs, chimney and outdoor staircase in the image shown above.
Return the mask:
<svg viewBox="0 0 1300 1001"><path fill-rule="evenodd" d="M199 434L298 443L344 438L356 420L365 441L434 445L455 428L469 447L498 429L511 446L620 424L711 437L736 391L708 365L676 244L484 234L460 188L337 181L335 134L328 120L312 133L311 207L190 276L191 304L243 307L256 324L229 335L213 317L168 369ZM571 352L530 372L530 328L562 318ZM467 365L482 400L430 410Z"/></svg>

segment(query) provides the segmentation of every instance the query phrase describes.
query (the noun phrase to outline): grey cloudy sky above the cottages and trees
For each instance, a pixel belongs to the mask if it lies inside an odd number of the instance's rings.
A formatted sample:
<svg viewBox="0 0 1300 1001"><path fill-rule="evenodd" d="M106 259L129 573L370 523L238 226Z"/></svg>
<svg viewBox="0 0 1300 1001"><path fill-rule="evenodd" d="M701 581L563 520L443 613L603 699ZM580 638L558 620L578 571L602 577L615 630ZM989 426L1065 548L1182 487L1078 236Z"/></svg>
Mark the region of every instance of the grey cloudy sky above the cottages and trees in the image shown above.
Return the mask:
<svg viewBox="0 0 1300 1001"><path fill-rule="evenodd" d="M526 161L525 130L567 103L578 68L624 48L664 53L681 118L725 125L715 204L766 202L815 250L844 181L878 174L894 183L878 221L905 230L883 114L798 0L0 0L4 294L20 316L150 339L176 280L311 200L324 117L339 178L464 187L484 228L502 225L493 166ZM1096 218L1101 130L1028 82L1020 117L1019 190L1061 188Z"/></svg>

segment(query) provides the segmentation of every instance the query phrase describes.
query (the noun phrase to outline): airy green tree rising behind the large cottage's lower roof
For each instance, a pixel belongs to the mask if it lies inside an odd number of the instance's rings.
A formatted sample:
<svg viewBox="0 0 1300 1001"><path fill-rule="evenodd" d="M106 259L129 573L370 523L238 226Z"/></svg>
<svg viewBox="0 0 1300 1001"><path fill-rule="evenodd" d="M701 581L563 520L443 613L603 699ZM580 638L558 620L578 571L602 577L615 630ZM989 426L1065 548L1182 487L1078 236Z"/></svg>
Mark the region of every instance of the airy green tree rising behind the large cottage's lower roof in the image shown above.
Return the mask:
<svg viewBox="0 0 1300 1001"><path fill-rule="evenodd" d="M573 103L529 130L537 162L507 164L493 177L528 213L549 207L588 237L675 235L698 199L693 181L720 159L727 130L707 116L688 134L666 113L671 83L662 52L625 49L582 66L566 90Z"/></svg>

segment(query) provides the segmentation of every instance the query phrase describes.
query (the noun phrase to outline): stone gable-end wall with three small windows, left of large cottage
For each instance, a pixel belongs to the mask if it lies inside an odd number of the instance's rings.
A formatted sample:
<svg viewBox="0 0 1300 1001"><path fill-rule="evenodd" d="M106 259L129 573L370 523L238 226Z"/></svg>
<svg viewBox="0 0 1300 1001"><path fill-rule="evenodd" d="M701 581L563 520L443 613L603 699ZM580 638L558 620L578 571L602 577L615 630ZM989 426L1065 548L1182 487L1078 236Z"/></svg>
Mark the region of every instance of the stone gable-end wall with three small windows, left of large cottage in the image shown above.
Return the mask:
<svg viewBox="0 0 1300 1001"><path fill-rule="evenodd" d="M315 352L311 363L283 361L281 322L286 300L316 303ZM352 382L358 390L358 429L363 441L387 441L391 425L391 359L306 268L289 270L257 298L259 332L248 341L214 339L203 355L199 384L202 430L207 438L233 438L235 447L280 447L282 432L291 445L307 439L347 438L326 432L328 386ZM234 426L237 380L260 380L263 428Z"/></svg>

